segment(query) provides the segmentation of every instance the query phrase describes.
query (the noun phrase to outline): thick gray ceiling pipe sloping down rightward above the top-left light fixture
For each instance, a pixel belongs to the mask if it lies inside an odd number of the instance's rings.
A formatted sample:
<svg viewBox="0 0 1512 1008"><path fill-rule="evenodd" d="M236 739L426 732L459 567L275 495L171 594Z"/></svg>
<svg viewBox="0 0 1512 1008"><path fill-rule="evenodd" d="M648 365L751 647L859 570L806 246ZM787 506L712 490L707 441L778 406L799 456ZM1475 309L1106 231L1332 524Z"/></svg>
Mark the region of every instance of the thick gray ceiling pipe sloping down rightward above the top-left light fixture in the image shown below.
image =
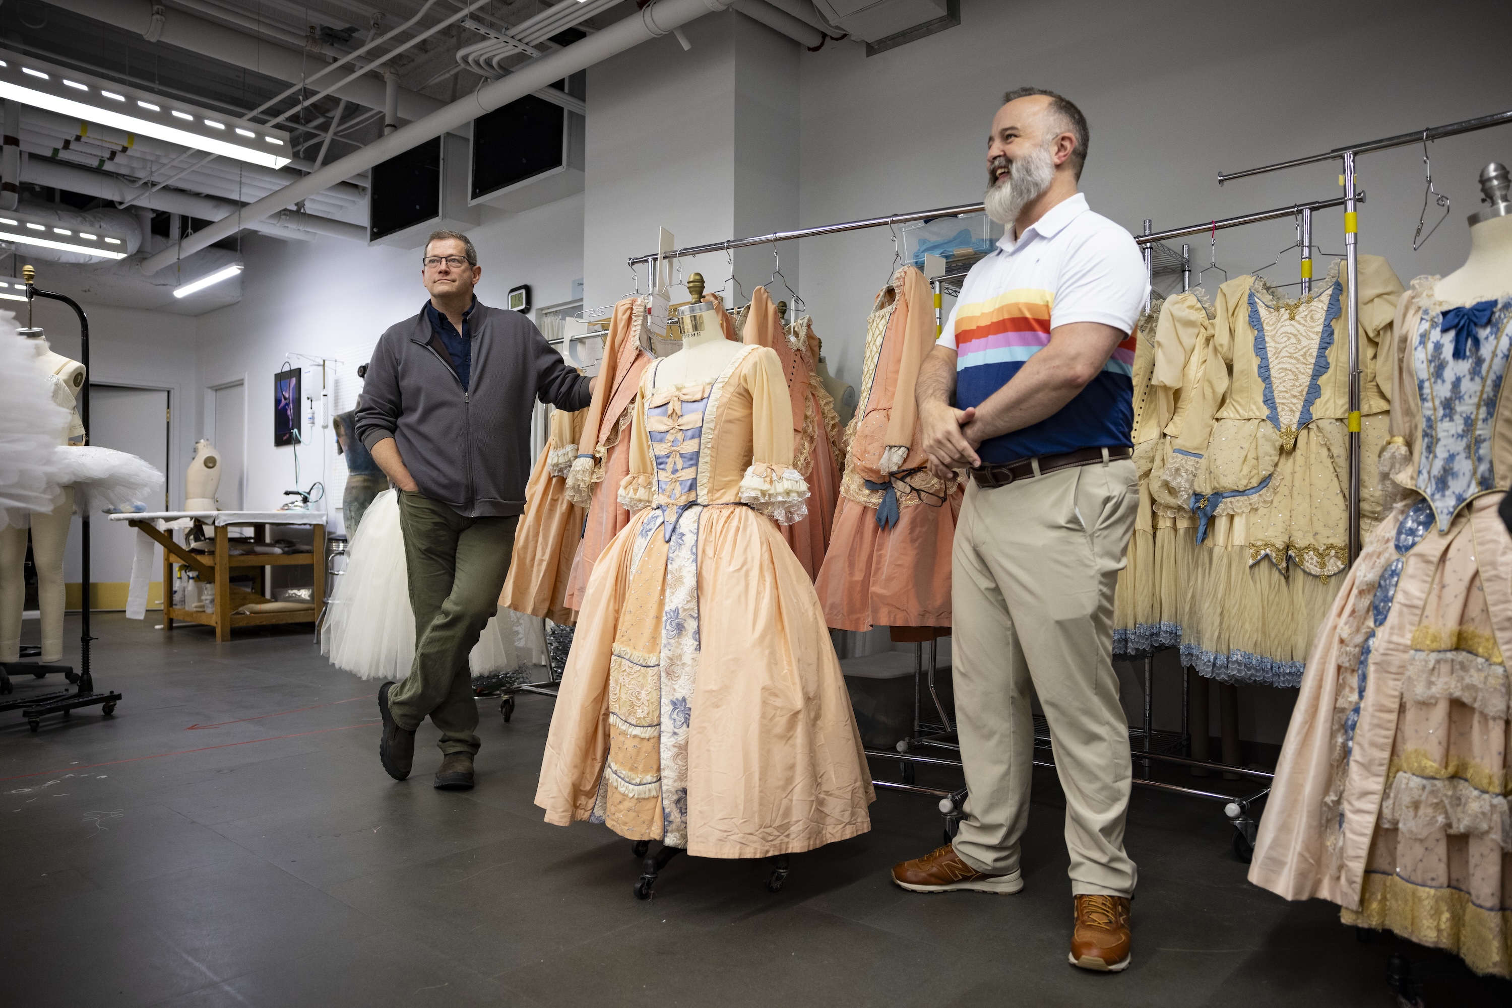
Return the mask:
<svg viewBox="0 0 1512 1008"><path fill-rule="evenodd" d="M147 38L154 26L153 8L148 0L47 0L54 8L82 14L95 21L113 24L118 29ZM150 39L151 41L151 39ZM219 59L243 70L298 83L308 77L311 56L304 51L283 48L233 27L215 24L204 18L172 9L162 20L157 41L186 48L201 56ZM357 77L337 88L333 94L369 109L383 110L384 83L376 77ZM399 89L399 116L420 119L446 107L443 101L429 98L405 88Z"/></svg>

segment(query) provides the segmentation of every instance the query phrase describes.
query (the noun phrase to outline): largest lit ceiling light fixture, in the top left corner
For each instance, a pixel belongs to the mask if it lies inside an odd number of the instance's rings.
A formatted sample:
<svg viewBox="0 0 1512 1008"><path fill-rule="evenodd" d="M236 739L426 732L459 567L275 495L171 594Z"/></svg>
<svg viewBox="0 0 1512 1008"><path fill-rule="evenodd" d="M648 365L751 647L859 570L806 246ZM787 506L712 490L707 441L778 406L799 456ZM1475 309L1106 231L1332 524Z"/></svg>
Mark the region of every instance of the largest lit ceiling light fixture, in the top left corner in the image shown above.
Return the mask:
<svg viewBox="0 0 1512 1008"><path fill-rule="evenodd" d="M0 98L265 168L283 168L290 159L283 130L6 50L0 50Z"/></svg>

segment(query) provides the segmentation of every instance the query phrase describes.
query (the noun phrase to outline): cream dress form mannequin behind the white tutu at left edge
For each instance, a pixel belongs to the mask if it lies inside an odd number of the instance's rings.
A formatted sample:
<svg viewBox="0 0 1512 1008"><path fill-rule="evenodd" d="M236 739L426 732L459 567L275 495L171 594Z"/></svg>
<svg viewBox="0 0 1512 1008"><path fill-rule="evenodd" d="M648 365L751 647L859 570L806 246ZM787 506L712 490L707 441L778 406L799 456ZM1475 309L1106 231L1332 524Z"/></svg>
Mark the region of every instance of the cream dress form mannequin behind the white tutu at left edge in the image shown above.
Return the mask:
<svg viewBox="0 0 1512 1008"><path fill-rule="evenodd" d="M83 441L83 423L74 411L74 396L85 384L85 366L53 352L41 329L21 329L33 343L36 366L53 378L53 400L67 407L70 423L57 432L59 444ZM42 660L56 662L64 656L64 547L74 512L73 487L65 487L62 499L51 511L32 512L32 562L36 565L38 606L42 611ZM0 530L0 662L14 662L21 653L21 609L26 603L26 540L27 529Z"/></svg>

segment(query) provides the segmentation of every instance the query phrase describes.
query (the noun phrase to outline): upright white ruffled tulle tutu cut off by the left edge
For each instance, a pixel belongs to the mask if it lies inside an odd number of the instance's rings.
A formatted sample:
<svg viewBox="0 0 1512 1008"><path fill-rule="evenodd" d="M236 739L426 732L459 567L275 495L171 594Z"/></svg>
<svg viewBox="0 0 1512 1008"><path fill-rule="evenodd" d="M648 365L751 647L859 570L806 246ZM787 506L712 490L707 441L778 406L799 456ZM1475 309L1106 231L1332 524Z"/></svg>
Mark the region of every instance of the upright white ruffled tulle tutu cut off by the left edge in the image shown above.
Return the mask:
<svg viewBox="0 0 1512 1008"><path fill-rule="evenodd" d="M0 313L0 527L26 527L32 511L60 500L53 456L68 429L68 410L53 402L53 382L36 367L36 351Z"/></svg>

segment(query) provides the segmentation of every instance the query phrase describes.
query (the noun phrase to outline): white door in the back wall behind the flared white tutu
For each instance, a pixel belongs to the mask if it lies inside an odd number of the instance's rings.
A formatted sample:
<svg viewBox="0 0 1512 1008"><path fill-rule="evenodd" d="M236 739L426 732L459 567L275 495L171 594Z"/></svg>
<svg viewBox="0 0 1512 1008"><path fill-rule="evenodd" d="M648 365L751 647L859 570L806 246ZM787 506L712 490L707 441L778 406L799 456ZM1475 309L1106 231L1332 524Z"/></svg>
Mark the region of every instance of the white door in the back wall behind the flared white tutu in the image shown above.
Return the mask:
<svg viewBox="0 0 1512 1008"><path fill-rule="evenodd" d="M129 452L168 473L168 391L162 388L122 388L119 385L89 385L89 443ZM144 500L148 511L163 511L162 494ZM110 521L103 514L89 515L89 580L97 585L95 604L101 609L125 606L125 586L132 580L132 556L136 532L124 521ZM82 529L74 515L68 536L68 577L82 577L79 544ZM162 550L156 552L156 573L162 580ZM151 597L159 595L154 591Z"/></svg>

